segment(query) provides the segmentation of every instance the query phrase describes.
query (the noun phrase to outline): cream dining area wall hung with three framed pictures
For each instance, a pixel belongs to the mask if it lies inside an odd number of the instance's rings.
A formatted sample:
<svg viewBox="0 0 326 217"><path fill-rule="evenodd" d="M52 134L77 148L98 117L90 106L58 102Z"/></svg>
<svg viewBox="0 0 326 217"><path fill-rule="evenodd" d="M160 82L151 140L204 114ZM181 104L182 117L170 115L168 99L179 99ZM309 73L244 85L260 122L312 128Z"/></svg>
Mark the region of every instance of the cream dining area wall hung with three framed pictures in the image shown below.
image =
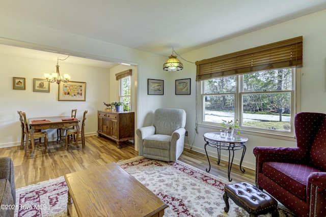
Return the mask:
<svg viewBox="0 0 326 217"><path fill-rule="evenodd" d="M33 78L44 79L44 72L56 71L56 59L40 60L5 54L0 52L0 147L20 144L20 122L17 110L27 117L71 115L71 109L77 109L77 117L82 119L88 110L86 135L95 134L97 129L97 110L103 109L103 101L108 101L108 69L60 62L61 73L71 75L72 81L86 82L86 101L58 101L58 84L50 83L50 92L34 92ZM13 89L13 77L25 78L25 90ZM98 87L98 88L94 88ZM47 130L53 140L55 130Z"/></svg>

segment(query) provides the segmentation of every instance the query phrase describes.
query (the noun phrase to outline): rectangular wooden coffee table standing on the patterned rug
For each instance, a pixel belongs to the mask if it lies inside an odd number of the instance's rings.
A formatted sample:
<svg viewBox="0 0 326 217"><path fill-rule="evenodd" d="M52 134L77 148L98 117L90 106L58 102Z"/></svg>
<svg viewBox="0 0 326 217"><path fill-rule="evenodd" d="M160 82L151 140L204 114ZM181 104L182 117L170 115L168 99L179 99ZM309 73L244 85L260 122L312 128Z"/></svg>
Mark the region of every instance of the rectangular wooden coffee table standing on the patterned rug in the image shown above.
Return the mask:
<svg viewBox="0 0 326 217"><path fill-rule="evenodd" d="M65 175L70 216L157 216L168 205L116 163Z"/></svg>

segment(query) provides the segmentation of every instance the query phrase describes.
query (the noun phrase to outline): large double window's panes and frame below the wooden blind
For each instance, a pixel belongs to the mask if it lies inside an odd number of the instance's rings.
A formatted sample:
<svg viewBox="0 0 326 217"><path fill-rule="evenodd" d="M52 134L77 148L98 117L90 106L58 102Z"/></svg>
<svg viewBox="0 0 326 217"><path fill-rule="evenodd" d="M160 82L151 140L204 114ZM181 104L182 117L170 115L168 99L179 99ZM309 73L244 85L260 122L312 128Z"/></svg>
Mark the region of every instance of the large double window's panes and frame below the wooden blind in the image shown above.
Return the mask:
<svg viewBox="0 0 326 217"><path fill-rule="evenodd" d="M241 130L293 135L295 68L201 81L202 122L239 119Z"/></svg>

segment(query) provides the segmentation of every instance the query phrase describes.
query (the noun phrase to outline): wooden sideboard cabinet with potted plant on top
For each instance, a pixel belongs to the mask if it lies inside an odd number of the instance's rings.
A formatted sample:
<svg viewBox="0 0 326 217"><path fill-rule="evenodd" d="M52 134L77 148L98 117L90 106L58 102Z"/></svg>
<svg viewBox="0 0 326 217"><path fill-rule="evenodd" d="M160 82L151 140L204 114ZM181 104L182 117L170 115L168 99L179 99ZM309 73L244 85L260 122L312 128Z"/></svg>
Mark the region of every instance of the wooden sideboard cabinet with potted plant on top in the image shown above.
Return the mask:
<svg viewBox="0 0 326 217"><path fill-rule="evenodd" d="M134 112L97 111L97 136L105 136L117 142L134 139Z"/></svg>

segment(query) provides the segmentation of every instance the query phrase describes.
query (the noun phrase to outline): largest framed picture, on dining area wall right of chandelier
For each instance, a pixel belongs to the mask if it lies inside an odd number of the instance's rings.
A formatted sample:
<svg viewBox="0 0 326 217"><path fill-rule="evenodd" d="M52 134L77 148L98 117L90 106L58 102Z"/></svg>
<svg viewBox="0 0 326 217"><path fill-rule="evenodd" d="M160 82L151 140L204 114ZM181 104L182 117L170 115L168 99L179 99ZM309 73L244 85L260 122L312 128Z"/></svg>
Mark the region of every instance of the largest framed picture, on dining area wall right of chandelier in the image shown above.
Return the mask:
<svg viewBox="0 0 326 217"><path fill-rule="evenodd" d="M86 82L61 82L58 86L58 101L86 101Z"/></svg>

